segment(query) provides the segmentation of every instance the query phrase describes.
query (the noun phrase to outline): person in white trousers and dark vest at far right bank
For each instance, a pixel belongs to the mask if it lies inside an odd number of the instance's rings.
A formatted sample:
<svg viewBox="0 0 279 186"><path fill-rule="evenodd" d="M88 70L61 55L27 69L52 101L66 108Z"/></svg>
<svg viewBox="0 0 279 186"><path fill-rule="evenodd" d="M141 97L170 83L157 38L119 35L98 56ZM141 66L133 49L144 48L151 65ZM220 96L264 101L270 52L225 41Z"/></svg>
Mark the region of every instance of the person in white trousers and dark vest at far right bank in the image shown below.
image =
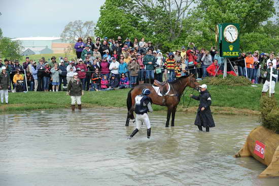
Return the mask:
<svg viewBox="0 0 279 186"><path fill-rule="evenodd" d="M266 72L263 75L266 78L266 80L263 84L262 96L266 95L266 92L269 89L270 96L274 97L275 94L274 88L275 88L276 79L278 77L278 72L276 69L272 68L272 66L273 66L272 62L269 62L268 68L266 69Z"/></svg>

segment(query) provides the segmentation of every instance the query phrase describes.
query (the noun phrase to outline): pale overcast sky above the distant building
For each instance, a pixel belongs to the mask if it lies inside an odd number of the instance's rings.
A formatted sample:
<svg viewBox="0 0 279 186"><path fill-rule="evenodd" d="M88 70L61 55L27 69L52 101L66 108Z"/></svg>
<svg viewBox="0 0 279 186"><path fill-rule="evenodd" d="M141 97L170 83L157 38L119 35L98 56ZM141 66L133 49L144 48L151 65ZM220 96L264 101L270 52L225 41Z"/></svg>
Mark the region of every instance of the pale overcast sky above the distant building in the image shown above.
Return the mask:
<svg viewBox="0 0 279 186"><path fill-rule="evenodd" d="M3 35L18 37L60 37L70 21L99 18L105 0L0 0Z"/></svg>

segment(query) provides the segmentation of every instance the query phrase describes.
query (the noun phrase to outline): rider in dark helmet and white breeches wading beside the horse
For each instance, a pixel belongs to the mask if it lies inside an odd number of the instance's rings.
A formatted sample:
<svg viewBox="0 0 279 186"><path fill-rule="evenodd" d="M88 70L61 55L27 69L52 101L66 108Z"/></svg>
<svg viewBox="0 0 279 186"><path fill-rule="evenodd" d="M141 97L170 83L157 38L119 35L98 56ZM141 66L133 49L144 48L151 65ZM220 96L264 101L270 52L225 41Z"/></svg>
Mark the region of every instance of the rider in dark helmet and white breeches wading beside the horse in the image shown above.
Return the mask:
<svg viewBox="0 0 279 186"><path fill-rule="evenodd" d="M132 134L128 137L131 139L142 127L142 123L144 122L147 127L147 138L150 138L151 135L151 126L147 112L153 112L151 107L151 99L147 96L150 94L150 89L144 88L142 95L137 95L135 97L135 110L136 113L135 121L136 121L136 129L132 132Z"/></svg>

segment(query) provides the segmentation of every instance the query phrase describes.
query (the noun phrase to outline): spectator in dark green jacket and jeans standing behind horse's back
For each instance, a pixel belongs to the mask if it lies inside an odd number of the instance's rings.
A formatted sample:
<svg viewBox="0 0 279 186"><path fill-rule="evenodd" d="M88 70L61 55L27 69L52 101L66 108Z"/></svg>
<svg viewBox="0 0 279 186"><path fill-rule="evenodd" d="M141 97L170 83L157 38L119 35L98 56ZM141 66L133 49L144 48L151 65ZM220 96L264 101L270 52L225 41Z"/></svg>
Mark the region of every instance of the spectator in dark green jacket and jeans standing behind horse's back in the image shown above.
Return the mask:
<svg viewBox="0 0 279 186"><path fill-rule="evenodd" d="M156 66L155 57L152 55L152 50L148 49L148 53L144 56L143 63L146 66L146 83L153 84L154 82L154 66Z"/></svg>

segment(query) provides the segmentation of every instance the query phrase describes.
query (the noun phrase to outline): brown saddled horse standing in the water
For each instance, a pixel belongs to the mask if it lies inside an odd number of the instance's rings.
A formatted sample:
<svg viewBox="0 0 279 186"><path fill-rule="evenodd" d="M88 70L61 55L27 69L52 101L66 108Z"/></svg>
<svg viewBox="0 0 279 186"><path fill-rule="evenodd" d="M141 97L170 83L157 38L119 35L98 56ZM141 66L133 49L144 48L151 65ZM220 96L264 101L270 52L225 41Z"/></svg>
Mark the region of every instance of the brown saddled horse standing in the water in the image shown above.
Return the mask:
<svg viewBox="0 0 279 186"><path fill-rule="evenodd" d="M127 96L128 113L127 113L125 126L129 126L129 120L134 119L133 111L135 109L135 97L137 95L141 95L142 90L144 88L149 88L151 94L148 96L151 98L152 103L167 107L167 118L166 118L165 127L168 127L169 125L170 114L171 114L171 127L174 127L177 105L180 102L181 95L183 94L187 86L190 86L195 90L199 90L199 83L196 81L193 74L189 76L182 76L176 79L175 81L168 82L168 83L170 86L169 92L168 94L163 96L158 96L155 89L152 87L152 84L144 83L131 88ZM166 84L166 82L163 84Z"/></svg>

